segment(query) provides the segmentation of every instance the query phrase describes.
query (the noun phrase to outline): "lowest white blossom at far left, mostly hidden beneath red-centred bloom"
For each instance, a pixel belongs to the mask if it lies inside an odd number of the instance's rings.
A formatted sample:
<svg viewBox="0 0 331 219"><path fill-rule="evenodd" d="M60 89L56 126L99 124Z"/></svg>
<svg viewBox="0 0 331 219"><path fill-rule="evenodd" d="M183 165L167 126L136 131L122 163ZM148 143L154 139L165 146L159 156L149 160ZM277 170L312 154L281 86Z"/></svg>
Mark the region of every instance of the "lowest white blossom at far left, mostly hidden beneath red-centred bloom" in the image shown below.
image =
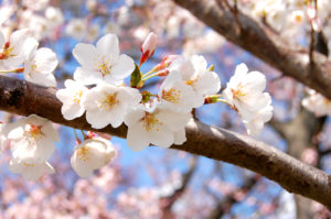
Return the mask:
<svg viewBox="0 0 331 219"><path fill-rule="evenodd" d="M9 169L22 174L25 180L38 180L43 174L54 174L55 171L49 162L36 162L33 158L11 160Z"/></svg>

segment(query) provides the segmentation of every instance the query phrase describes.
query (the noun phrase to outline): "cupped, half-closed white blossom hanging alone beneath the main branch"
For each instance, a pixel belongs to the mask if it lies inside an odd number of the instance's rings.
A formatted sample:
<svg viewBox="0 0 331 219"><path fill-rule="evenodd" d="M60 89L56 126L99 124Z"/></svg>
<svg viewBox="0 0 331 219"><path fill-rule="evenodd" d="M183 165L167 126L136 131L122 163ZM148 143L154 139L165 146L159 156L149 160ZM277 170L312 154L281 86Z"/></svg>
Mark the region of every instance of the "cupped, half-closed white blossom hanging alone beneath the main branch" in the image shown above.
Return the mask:
<svg viewBox="0 0 331 219"><path fill-rule="evenodd" d="M114 157L113 144L103 138L94 138L75 146L71 164L81 177L88 177L93 171L107 165Z"/></svg>

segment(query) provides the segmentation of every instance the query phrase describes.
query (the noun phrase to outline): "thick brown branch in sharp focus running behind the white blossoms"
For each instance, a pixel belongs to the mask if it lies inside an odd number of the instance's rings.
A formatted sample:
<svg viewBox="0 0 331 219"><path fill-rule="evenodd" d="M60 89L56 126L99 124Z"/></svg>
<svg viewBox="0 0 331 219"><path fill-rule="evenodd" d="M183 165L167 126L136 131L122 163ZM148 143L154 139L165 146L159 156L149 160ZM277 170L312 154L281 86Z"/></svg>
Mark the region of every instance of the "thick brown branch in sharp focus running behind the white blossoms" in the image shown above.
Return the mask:
<svg viewBox="0 0 331 219"><path fill-rule="evenodd" d="M0 110L15 114L38 114L53 122L76 129L102 131L125 138L127 128L107 127L94 130L84 116L72 121L61 114L56 89L0 76ZM290 193L314 199L331 209L331 176L314 167L258 142L252 138L191 120L186 125L188 141L171 149L186 151L254 171L277 182ZM321 195L323 194L323 195Z"/></svg>

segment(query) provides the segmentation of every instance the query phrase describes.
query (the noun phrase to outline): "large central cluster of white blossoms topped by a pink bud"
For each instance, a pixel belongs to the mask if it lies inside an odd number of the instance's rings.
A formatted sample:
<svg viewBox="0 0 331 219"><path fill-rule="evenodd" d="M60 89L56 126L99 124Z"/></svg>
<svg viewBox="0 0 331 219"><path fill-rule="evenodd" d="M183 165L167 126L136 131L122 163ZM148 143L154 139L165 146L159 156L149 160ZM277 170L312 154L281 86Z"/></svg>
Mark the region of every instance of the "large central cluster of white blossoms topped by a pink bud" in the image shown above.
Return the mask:
<svg viewBox="0 0 331 219"><path fill-rule="evenodd" d="M217 95L220 78L203 56L170 55L142 74L140 66L153 54L156 44L157 36L150 33L141 46L139 66L120 54L114 34L99 39L96 46L77 44L73 55L81 66L74 73L74 80L66 80L65 88L56 94L63 102L64 118L72 120L86 112L87 122L95 129L125 123L127 143L134 151L149 144L169 147L185 142L191 111L204 103L228 103L238 111L249 134L258 134L270 120L271 99L263 92L266 87L263 74L247 74L247 67L239 65L222 95ZM130 87L124 83L129 76ZM167 76L158 94L142 90L145 83L156 76Z"/></svg>

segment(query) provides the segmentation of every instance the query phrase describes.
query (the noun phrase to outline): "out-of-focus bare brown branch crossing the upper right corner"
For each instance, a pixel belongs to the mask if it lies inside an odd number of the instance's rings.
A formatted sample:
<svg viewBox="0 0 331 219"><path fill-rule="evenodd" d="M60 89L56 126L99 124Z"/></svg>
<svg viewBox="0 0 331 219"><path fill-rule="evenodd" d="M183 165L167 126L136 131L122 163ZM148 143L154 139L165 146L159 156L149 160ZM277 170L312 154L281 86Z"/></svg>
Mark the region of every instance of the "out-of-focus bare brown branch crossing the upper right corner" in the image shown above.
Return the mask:
<svg viewBox="0 0 331 219"><path fill-rule="evenodd" d="M287 42L269 28L237 11L236 17L226 7L218 7L212 0L173 0L193 15L225 36L228 41L250 52L269 65L331 99L331 62L313 52L314 63L310 65L309 50L293 42Z"/></svg>

